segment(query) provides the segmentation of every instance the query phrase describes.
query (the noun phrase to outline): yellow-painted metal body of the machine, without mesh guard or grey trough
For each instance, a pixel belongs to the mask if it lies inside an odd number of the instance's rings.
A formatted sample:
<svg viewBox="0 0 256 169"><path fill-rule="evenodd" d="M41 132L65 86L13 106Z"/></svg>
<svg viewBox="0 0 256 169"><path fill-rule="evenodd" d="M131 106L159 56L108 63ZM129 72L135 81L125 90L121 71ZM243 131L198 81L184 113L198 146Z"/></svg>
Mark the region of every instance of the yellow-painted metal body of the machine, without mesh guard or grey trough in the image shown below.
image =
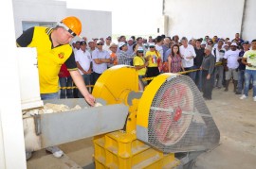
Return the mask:
<svg viewBox="0 0 256 169"><path fill-rule="evenodd" d="M148 126L148 117L155 93L172 74L155 77L140 99L127 102L129 93L138 92L137 72L130 66L115 66L106 70L98 79L93 95L104 99L107 104L124 103L129 106L126 131L114 131L94 137L95 165L97 169L155 169L174 168L178 165L174 154L164 155L161 151L137 140L137 122ZM139 115L138 115L139 113ZM138 117L138 118L137 118Z"/></svg>

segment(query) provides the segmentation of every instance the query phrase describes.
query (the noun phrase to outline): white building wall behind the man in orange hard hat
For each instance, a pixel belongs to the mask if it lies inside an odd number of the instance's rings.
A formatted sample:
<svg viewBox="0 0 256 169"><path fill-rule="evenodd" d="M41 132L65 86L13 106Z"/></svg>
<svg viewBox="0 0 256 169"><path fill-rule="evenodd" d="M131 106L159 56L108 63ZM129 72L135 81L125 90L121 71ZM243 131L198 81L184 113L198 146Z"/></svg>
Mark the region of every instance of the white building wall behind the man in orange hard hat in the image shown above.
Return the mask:
<svg viewBox="0 0 256 169"><path fill-rule="evenodd" d="M22 22L59 22L66 16L77 16L82 22L82 36L99 38L112 35L110 11L66 8L64 1L12 0L15 35L22 34Z"/></svg>

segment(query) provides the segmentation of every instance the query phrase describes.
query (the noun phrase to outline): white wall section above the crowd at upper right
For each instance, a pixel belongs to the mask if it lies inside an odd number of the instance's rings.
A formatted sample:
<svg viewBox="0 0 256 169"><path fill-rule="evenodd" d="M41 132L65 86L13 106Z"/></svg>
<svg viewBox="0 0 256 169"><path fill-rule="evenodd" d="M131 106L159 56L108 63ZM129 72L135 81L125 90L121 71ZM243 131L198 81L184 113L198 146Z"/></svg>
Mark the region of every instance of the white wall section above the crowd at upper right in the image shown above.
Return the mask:
<svg viewBox="0 0 256 169"><path fill-rule="evenodd" d="M234 38L241 30L243 8L244 0L165 0L168 35Z"/></svg>

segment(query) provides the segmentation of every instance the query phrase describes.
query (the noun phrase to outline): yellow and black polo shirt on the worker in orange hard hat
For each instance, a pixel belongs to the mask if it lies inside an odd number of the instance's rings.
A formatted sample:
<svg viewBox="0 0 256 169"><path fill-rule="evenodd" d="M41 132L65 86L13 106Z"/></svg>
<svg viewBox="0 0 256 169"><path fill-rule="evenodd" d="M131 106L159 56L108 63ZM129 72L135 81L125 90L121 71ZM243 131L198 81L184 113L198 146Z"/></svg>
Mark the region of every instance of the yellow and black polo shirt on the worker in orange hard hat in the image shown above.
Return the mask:
<svg viewBox="0 0 256 169"><path fill-rule="evenodd" d="M35 26L27 29L17 40L20 47L36 47L40 93L57 93L59 90L59 72L63 63L67 69L77 70L72 47L69 44L53 47L52 28Z"/></svg>

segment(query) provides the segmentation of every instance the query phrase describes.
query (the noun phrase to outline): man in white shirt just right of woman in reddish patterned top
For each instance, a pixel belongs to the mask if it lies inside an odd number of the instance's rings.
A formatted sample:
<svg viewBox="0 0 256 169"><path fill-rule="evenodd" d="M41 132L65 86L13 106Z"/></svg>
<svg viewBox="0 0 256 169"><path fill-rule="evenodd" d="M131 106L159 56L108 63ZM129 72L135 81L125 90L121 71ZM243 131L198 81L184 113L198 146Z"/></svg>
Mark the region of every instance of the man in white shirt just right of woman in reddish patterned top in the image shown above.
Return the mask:
<svg viewBox="0 0 256 169"><path fill-rule="evenodd" d="M194 48L191 44L188 43L188 39L186 37L183 37L181 39L182 45L179 47L180 56L182 58L182 64L185 69L185 71L190 71L194 69L193 66L193 59L196 57ZM195 81L195 72L191 72L187 74L192 78L193 81Z"/></svg>

